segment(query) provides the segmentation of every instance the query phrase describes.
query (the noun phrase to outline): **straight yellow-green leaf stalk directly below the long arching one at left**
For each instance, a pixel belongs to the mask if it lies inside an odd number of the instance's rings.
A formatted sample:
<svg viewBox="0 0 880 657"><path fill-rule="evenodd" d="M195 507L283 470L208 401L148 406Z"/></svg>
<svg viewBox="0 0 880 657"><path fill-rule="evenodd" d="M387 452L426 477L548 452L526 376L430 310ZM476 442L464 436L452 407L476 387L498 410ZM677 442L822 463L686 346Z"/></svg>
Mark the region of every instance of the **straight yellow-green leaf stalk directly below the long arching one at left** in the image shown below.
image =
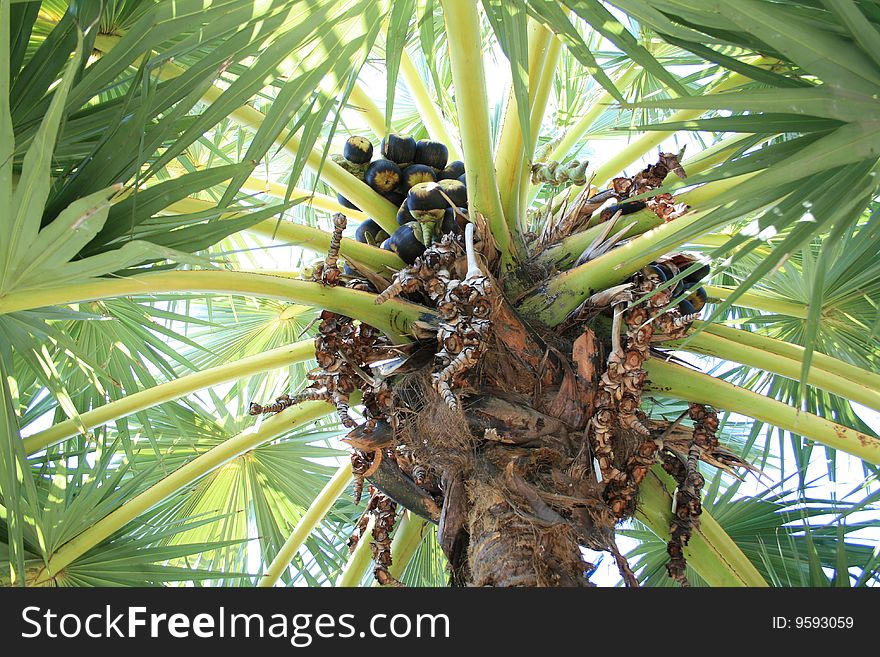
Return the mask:
<svg viewBox="0 0 880 657"><path fill-rule="evenodd" d="M293 363L300 363L312 358L314 355L314 341L302 340L264 351L255 356L211 367L202 372L187 374L173 381L167 381L146 390L127 394L125 397L109 404L86 411L77 416L76 421L65 420L52 425L48 429L38 431L23 440L24 451L26 454L34 454L65 438L77 435L82 429L94 429L158 404L178 399L196 390L209 388L227 381L236 381L259 374L260 372L286 367Z"/></svg>

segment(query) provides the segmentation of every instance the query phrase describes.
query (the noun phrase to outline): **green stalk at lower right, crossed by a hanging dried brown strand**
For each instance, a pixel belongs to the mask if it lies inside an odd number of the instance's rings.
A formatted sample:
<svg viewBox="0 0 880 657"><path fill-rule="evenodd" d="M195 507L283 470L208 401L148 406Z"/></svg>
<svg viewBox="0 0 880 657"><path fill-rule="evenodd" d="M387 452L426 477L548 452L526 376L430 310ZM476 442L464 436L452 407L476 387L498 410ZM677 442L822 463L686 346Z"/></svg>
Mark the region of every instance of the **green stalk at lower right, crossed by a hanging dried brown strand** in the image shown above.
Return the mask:
<svg viewBox="0 0 880 657"><path fill-rule="evenodd" d="M665 477L665 473L662 470L658 473L655 467L642 481L636 517L659 538L668 541L672 496L663 481ZM700 515L699 527L691 535L684 554L688 565L709 586L767 586L755 565L706 509Z"/></svg>

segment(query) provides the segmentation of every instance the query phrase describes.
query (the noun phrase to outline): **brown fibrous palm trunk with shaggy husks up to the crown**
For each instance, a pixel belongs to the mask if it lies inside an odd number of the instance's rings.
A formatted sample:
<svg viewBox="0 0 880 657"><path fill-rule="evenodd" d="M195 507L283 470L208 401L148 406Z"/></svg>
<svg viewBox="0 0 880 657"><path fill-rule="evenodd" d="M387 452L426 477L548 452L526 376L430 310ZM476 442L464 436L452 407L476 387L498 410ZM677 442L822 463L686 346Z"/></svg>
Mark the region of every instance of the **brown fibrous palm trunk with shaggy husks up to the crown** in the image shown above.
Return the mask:
<svg viewBox="0 0 880 657"><path fill-rule="evenodd" d="M438 538L452 583L589 586L579 546L608 546L615 523L584 431L598 349L586 350L580 365L562 353L548 359L507 304L494 330L479 392L463 410L450 409L424 380L398 393L420 400L403 442L418 445L415 459L438 472Z"/></svg>

